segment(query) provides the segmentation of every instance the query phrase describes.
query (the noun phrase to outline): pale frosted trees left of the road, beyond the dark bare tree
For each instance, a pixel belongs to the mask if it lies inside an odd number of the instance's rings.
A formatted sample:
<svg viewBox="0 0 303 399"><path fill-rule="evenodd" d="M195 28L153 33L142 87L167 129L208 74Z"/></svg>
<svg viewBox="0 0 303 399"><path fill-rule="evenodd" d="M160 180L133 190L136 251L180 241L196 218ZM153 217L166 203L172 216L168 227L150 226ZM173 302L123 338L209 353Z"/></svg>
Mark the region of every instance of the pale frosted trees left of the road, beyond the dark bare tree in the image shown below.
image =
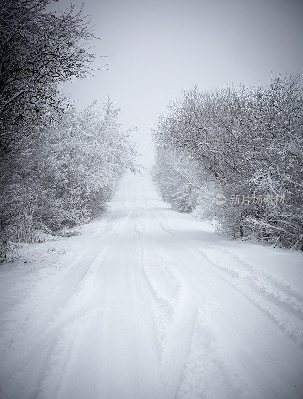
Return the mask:
<svg viewBox="0 0 303 399"><path fill-rule="evenodd" d="M107 98L103 112L98 102L83 111L70 108L60 123L40 132L20 172L18 190L29 200L19 207L12 237L29 236L25 226L32 233L36 228L51 232L89 221L126 170L139 171L131 132L123 132L117 118L118 109Z"/></svg>

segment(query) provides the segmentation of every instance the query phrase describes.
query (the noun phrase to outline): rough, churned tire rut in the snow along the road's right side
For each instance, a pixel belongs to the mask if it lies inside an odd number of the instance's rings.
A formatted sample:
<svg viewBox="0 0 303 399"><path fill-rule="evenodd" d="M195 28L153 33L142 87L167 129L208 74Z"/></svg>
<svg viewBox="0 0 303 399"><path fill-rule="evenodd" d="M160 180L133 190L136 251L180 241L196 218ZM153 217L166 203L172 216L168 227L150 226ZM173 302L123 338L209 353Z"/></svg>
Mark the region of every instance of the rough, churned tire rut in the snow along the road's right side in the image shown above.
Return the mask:
<svg viewBox="0 0 303 399"><path fill-rule="evenodd" d="M293 287L279 282L269 273L241 261L225 248L197 249L188 239L182 240L182 235L169 227L164 212L162 215L166 225L163 222L160 224L164 231L172 236L177 236L181 245L186 242L185 249L191 248L190 252L196 256L197 260L199 260L199 254L202 254L214 267L213 271L218 276L241 292L303 349L303 297L300 293ZM220 254L219 259L218 253ZM233 266L234 263L238 264L237 269ZM221 270L225 274L217 273L215 269ZM247 269L250 269L249 272L245 272Z"/></svg>

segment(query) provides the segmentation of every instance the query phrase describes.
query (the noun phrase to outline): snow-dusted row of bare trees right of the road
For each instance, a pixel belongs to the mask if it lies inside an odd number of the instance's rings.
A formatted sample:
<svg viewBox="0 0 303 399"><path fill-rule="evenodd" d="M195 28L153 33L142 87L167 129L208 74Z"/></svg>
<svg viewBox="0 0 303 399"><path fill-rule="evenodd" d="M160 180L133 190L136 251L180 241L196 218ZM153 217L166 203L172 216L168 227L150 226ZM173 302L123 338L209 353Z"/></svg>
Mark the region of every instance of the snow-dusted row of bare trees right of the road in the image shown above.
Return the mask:
<svg viewBox="0 0 303 399"><path fill-rule="evenodd" d="M153 180L172 208L237 239L303 249L303 88L194 87L153 130Z"/></svg>

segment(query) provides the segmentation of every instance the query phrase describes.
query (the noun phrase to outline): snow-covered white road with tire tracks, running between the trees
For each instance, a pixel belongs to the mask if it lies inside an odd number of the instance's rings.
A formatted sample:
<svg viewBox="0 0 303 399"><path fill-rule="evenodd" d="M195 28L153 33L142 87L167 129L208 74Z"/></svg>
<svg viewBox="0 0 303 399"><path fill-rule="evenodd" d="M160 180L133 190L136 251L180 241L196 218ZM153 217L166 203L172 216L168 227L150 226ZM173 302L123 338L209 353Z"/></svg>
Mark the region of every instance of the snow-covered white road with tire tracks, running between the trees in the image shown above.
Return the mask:
<svg viewBox="0 0 303 399"><path fill-rule="evenodd" d="M0 267L1 399L303 398L303 257L127 175L83 234Z"/></svg>

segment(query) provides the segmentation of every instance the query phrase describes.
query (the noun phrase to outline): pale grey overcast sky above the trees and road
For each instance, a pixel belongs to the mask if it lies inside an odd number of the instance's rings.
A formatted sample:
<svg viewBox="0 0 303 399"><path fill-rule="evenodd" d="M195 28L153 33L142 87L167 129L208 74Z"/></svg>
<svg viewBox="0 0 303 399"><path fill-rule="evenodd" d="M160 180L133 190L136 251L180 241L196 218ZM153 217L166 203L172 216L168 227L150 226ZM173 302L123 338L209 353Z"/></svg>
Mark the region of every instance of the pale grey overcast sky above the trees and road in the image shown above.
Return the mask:
<svg viewBox="0 0 303 399"><path fill-rule="evenodd" d="M68 7L59 0L56 9ZM81 0L74 0L75 9ZM96 35L95 67L110 70L64 86L75 106L109 94L123 127L138 128L141 162L152 160L150 128L184 88L267 84L302 71L301 0L87 0Z"/></svg>

